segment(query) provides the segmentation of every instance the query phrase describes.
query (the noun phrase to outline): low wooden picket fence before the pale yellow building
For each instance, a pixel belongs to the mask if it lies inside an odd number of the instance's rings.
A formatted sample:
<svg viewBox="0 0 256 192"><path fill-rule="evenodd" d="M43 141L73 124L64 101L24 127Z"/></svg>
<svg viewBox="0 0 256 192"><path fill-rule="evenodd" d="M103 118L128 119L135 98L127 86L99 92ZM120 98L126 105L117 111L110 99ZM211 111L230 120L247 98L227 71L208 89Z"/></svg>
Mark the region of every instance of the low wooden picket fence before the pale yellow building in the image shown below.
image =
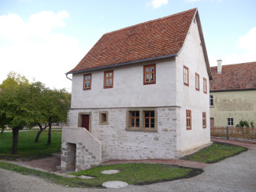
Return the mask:
<svg viewBox="0 0 256 192"><path fill-rule="evenodd" d="M211 137L256 139L255 127L210 127Z"/></svg>

